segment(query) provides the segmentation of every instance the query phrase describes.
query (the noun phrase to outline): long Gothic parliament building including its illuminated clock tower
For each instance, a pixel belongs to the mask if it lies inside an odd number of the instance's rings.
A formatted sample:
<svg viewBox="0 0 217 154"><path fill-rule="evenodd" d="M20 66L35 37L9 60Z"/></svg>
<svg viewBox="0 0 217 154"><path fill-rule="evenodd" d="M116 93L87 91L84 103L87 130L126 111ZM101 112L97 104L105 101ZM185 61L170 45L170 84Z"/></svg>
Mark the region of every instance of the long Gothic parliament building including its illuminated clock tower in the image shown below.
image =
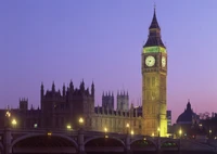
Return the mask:
<svg viewBox="0 0 217 154"><path fill-rule="evenodd" d="M139 52L138 52L139 54ZM78 119L82 117L84 129L126 133L127 129L135 134L161 136L167 134L167 52L161 37L156 13L149 27L149 37L142 47L142 106L129 104L127 91L118 93L103 92L102 106L94 105L95 87L90 88L85 81L75 88L73 81L56 90L54 82L50 90L40 87L40 107L28 107L28 100L21 99L18 108L8 108L11 118L16 118L17 128L27 129L66 129L79 128ZM116 108L115 106L116 100ZM5 123L7 110L0 111L0 124ZM126 125L129 124L129 128ZM4 127L4 125L0 125Z"/></svg>

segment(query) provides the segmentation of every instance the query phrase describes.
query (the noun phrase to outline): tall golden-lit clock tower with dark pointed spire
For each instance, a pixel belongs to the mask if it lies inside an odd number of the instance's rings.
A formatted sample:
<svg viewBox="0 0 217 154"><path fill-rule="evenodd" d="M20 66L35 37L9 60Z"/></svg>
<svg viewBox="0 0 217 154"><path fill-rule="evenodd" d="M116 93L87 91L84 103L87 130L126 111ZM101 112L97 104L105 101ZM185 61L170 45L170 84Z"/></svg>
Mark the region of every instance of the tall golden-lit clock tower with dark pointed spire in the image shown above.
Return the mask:
<svg viewBox="0 0 217 154"><path fill-rule="evenodd" d="M149 38L142 49L142 113L143 134L166 137L167 52L161 28L154 15Z"/></svg>

